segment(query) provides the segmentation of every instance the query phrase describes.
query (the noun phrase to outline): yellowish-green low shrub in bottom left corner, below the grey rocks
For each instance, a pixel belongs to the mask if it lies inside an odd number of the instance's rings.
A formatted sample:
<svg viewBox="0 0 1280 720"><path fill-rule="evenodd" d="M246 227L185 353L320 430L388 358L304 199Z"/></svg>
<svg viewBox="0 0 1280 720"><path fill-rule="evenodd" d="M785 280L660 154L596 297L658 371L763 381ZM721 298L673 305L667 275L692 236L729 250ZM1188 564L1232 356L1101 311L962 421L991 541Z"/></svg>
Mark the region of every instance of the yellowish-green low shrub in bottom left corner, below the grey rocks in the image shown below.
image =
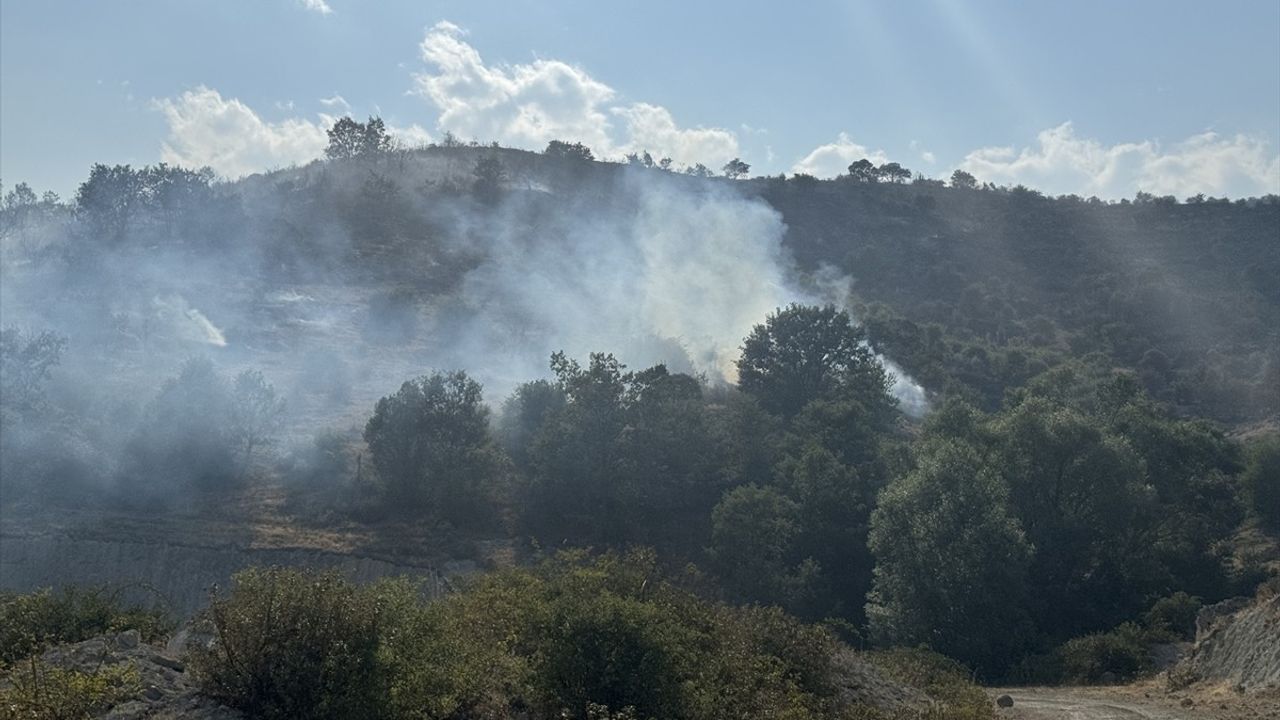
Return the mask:
<svg viewBox="0 0 1280 720"><path fill-rule="evenodd" d="M141 689L137 670L127 665L83 673L32 659L0 676L0 720L99 717Z"/></svg>

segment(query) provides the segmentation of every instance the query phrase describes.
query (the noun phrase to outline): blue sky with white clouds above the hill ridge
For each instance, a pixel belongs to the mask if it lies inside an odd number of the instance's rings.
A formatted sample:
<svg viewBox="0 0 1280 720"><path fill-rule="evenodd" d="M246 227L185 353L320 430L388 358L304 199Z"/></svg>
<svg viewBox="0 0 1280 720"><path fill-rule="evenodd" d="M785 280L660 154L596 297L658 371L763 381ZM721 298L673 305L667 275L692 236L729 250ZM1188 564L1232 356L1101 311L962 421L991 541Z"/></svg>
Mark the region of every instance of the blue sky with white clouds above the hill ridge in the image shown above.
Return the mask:
<svg viewBox="0 0 1280 720"><path fill-rule="evenodd" d="M4 0L0 181L227 178L404 145L581 141L833 177L860 158L1051 195L1280 192L1280 1Z"/></svg>

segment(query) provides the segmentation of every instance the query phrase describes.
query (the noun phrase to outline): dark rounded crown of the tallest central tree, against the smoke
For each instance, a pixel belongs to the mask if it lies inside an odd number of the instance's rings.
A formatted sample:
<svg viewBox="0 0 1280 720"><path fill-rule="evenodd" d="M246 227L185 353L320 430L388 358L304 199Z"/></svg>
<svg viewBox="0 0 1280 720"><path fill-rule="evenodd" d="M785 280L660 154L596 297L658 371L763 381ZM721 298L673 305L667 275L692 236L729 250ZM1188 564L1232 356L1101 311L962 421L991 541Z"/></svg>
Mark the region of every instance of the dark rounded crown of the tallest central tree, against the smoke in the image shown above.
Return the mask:
<svg viewBox="0 0 1280 720"><path fill-rule="evenodd" d="M868 407L892 402L884 368L863 342L863 331L833 305L790 305L755 325L737 360L739 387L783 418L841 391Z"/></svg>

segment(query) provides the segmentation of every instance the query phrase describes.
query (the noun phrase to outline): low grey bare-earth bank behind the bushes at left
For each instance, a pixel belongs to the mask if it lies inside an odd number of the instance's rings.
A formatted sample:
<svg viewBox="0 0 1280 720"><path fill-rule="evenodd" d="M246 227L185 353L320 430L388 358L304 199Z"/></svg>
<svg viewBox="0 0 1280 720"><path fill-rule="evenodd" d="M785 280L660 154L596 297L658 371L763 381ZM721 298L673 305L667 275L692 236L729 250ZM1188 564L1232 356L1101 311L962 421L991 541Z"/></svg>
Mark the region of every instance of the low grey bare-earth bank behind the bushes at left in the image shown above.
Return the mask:
<svg viewBox="0 0 1280 720"><path fill-rule="evenodd" d="M0 536L0 589L110 585L124 588L131 600L159 598L178 618L204 607L210 588L225 588L236 571L255 565L332 568L358 583L408 577L421 582L428 594L444 592L451 578L475 569L466 561L413 565L311 548L128 542L52 533Z"/></svg>

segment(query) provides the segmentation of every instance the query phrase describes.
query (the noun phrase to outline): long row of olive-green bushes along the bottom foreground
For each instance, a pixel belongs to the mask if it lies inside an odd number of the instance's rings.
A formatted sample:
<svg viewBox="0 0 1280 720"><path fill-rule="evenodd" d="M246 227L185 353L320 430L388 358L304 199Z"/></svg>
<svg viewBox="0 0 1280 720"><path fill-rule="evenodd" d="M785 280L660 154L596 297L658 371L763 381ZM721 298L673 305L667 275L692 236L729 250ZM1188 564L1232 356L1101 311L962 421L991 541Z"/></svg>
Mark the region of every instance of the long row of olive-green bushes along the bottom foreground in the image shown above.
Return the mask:
<svg viewBox="0 0 1280 720"><path fill-rule="evenodd" d="M860 717L824 630L680 589L648 552L562 553L424 603L404 584L251 570L192 667L256 717Z"/></svg>

